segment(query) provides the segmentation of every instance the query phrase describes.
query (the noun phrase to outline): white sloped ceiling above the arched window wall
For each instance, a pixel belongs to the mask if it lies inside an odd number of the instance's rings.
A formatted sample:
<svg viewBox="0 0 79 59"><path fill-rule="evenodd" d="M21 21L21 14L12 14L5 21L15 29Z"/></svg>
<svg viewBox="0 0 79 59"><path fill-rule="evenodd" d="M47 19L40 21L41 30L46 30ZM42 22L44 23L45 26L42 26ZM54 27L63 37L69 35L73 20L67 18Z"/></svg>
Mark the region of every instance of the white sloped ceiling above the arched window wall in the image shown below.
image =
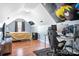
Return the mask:
<svg viewBox="0 0 79 59"><path fill-rule="evenodd" d="M0 3L0 23L9 24L17 18L33 21L36 25L56 23L40 3Z"/></svg>

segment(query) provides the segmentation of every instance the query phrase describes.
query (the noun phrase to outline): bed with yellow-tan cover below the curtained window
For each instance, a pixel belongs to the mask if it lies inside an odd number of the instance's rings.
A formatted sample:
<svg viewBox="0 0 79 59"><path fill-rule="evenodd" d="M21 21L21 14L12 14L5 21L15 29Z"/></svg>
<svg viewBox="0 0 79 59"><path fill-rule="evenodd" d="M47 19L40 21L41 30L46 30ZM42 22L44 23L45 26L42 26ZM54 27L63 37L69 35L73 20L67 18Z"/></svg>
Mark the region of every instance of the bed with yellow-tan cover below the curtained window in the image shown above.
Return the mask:
<svg viewBox="0 0 79 59"><path fill-rule="evenodd" d="M12 41L32 39L32 34L27 32L10 32L10 35L13 38Z"/></svg>

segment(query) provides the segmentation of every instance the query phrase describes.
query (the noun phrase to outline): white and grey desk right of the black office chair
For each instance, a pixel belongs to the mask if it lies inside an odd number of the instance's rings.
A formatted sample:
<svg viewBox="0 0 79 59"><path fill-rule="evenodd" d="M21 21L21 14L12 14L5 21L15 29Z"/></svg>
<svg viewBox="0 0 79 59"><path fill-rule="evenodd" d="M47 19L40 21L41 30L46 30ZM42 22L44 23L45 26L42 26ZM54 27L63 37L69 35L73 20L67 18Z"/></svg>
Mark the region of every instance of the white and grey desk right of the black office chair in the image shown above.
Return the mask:
<svg viewBox="0 0 79 59"><path fill-rule="evenodd" d="M60 36L57 37L58 41L61 42L63 40L66 41L65 46L63 49L66 49L67 51L69 51L70 53L73 54L79 54L79 39L76 41L78 44L76 44L76 42L74 42L74 38L72 36ZM70 46L70 47L68 47ZM77 50L78 49L78 50Z"/></svg>

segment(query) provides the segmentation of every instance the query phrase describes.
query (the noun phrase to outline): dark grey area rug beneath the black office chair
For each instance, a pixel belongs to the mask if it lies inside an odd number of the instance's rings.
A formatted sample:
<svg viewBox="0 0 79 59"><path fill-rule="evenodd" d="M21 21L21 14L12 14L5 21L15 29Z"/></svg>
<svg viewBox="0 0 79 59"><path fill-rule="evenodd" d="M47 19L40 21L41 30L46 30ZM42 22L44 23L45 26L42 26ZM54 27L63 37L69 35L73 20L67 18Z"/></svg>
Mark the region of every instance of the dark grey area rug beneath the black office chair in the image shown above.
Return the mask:
<svg viewBox="0 0 79 59"><path fill-rule="evenodd" d="M41 50L33 51L37 56L79 56L79 54L73 54L68 52L67 50L62 50L61 53L54 54L51 52L50 48L44 48ZM48 53L49 52L49 53Z"/></svg>

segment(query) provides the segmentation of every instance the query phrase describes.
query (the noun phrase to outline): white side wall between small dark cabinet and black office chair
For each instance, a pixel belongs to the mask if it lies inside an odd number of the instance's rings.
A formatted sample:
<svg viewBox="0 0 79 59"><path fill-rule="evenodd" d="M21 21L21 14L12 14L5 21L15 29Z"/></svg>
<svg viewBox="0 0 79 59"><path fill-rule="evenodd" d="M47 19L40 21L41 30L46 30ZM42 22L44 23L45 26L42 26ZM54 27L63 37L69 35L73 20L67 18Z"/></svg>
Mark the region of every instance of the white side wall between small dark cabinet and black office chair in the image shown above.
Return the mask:
<svg viewBox="0 0 79 59"><path fill-rule="evenodd" d="M38 39L43 43L45 43L45 39L46 39L46 42L49 43L48 36L47 36L48 27L50 27L50 25L36 26L33 28L34 32L38 33Z"/></svg>

